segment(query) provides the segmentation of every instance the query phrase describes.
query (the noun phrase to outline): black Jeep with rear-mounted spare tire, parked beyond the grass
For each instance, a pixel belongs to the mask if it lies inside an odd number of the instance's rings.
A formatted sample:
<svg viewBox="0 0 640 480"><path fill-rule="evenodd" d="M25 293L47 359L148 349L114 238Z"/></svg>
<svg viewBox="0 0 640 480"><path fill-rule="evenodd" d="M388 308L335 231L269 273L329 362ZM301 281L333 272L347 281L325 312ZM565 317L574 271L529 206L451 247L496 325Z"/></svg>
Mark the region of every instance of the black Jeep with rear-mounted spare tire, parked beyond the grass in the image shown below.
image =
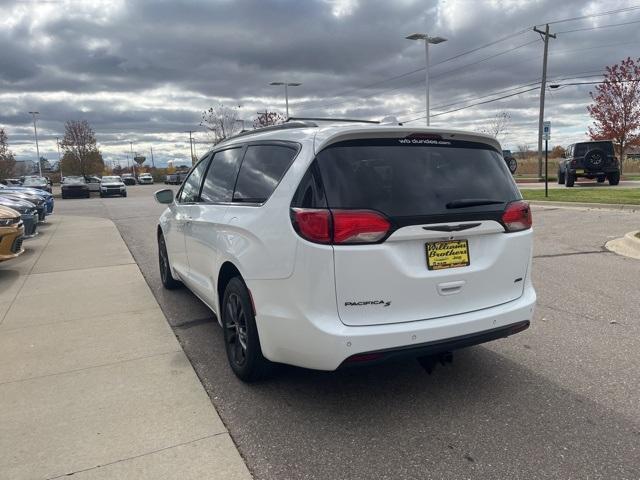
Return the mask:
<svg viewBox="0 0 640 480"><path fill-rule="evenodd" d="M558 183L573 187L578 177L595 178L598 183L609 180L609 185L620 182L620 163L610 141L580 142L567 147L558 165Z"/></svg>

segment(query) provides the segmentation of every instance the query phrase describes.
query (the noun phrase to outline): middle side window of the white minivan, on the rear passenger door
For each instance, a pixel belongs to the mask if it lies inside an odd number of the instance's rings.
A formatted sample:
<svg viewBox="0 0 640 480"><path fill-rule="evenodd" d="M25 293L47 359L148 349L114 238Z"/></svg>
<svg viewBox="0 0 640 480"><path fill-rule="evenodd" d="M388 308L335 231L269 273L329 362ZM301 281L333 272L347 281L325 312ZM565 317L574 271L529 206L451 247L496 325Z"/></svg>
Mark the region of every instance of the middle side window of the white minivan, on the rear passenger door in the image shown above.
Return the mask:
<svg viewBox="0 0 640 480"><path fill-rule="evenodd" d="M231 201L241 161L242 147L221 150L213 155L200 195L203 202Z"/></svg>

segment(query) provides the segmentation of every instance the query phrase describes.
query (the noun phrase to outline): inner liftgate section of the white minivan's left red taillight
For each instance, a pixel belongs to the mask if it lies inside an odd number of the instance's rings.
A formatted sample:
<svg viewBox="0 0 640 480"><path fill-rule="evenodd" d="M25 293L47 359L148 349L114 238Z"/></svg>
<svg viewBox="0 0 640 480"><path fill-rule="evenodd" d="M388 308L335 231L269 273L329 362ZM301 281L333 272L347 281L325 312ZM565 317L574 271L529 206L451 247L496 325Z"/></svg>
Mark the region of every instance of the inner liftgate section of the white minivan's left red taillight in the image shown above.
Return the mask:
<svg viewBox="0 0 640 480"><path fill-rule="evenodd" d="M332 210L333 243L373 243L384 238L391 224L369 210Z"/></svg>

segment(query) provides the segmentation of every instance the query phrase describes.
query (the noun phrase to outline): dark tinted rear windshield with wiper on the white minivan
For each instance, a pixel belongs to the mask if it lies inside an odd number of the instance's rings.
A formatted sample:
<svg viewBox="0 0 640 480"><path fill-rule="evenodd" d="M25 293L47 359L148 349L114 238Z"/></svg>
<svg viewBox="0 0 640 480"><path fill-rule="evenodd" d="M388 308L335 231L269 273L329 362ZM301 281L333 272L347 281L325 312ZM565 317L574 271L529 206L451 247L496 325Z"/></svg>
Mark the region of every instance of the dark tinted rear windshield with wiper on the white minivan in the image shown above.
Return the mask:
<svg viewBox="0 0 640 480"><path fill-rule="evenodd" d="M521 198L501 152L438 140L355 140L321 151L318 166L330 208L373 209L389 217L490 211ZM493 201L460 208L460 201ZM451 202L458 202L452 208Z"/></svg>

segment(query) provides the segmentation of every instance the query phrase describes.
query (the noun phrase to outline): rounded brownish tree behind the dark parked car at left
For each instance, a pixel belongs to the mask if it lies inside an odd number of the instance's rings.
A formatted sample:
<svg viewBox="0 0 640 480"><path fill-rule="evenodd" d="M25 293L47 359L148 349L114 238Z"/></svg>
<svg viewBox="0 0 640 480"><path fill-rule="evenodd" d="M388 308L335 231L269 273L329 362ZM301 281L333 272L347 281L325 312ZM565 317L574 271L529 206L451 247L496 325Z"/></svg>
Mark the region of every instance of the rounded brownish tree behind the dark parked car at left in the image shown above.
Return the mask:
<svg viewBox="0 0 640 480"><path fill-rule="evenodd" d="M66 175L95 175L104 170L95 133L86 120L65 123L60 147L64 151L62 166Z"/></svg>

